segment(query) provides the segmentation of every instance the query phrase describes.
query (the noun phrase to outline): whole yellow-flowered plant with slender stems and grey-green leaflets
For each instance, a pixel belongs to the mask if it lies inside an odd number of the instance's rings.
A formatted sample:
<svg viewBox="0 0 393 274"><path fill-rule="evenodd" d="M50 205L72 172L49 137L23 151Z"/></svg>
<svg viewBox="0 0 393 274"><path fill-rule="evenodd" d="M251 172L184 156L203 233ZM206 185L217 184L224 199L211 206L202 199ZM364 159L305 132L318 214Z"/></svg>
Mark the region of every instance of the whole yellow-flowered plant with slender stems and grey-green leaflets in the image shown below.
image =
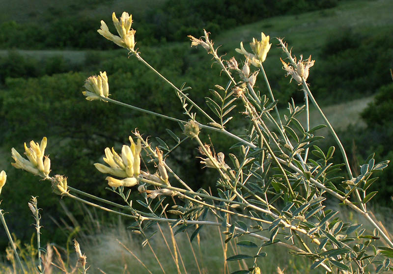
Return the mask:
<svg viewBox="0 0 393 274"><path fill-rule="evenodd" d="M50 160L48 157L44 160L47 142L45 137L40 145L31 141L28 148L25 144L28 160L12 149L15 167L51 181L57 194L133 219L135 222L130 227L145 236L146 241L148 237L145 232L155 222L170 223L172 228L177 227L177 231L192 229L193 239L202 227L219 226L227 236L225 243L244 239L237 244L257 249L253 254L237 254L226 258L226 261L244 259L249 262L247 269L237 273L261 273L262 258L266 256L262 251L271 244L288 248L291 254L308 257L312 261L311 269L319 267L326 273L361 274L365 271L378 273L392 270L389 259L393 257L392 239L383 226L372 218L367 208L367 203L376 194L368 192L368 188L376 180L373 175L384 169L388 161L376 163L371 156L361 166L361 174L353 175L345 149L307 83L309 69L314 65L311 56L306 60L301 57L296 61L286 43L278 39L289 61L287 63L281 59L283 69L287 76L291 76L291 80L298 82L305 98L304 105L298 106L292 101L289 104L289 115L281 115L263 67L272 45L269 36L262 32L261 41L253 38L250 44L253 53L245 50L243 42L240 44L240 49L236 49L236 52L245 57L241 69L240 61L235 57L224 60L218 55L218 48L214 47L206 30L201 38L189 36L191 46L202 46L213 56L228 78L225 87L215 85L212 96L206 97L205 108L197 105L185 93L188 87L175 86L135 50L136 31L131 28L131 15L124 12L117 19L113 13L112 20L119 36L113 35L104 21L101 21L98 32L118 46L126 48L168 83L179 98L187 119L180 120L111 99L106 72L100 72L100 76L86 80L87 91L83 93L86 99L98 99L175 121L183 130L183 138L168 130L176 144L169 148L161 139L163 145L152 147L148 139L136 130L133 133L136 142L133 137L129 137L131 145L123 145L120 155L113 148L107 147L104 150L103 161L107 165L94 165L100 172L117 177L106 178L110 187L108 190L119 195L125 205L72 188L62 175L49 176ZM252 71L249 64L256 67L256 70ZM266 83L266 94L255 89L256 79L260 75L263 75ZM324 118L326 125L310 128L309 101ZM230 116L231 111L236 107L243 110L248 121L245 125L248 130L239 135L227 129L233 118ZM307 115L305 124L301 124L296 118L302 111ZM208 122L200 122L200 116L204 116ZM344 159L346 178L333 175L342 166L331 163L335 147L331 146L323 151L317 146L321 137L316 132L325 126L333 135ZM201 140L201 136L209 131L233 139L232 153L226 155L230 162L225 162L224 152L216 154L211 145ZM200 163L216 170L218 195L204 189L193 190L187 180L180 178L166 163L171 152L186 140L196 144ZM314 157L310 155L310 150ZM154 172L141 166L142 151L147 162L155 163ZM4 175L0 176L0 182L5 182ZM131 189L139 192L141 198L138 202L143 210L133 206ZM178 204L170 207L167 197ZM338 211L327 209L326 201L333 201L332 197L344 207L364 216L374 230L366 232L361 224L351 224L340 219ZM162 211L158 210L160 206ZM167 213L175 217L168 218ZM218 221L207 220L209 214L217 217ZM378 247L381 245L384 247Z"/></svg>

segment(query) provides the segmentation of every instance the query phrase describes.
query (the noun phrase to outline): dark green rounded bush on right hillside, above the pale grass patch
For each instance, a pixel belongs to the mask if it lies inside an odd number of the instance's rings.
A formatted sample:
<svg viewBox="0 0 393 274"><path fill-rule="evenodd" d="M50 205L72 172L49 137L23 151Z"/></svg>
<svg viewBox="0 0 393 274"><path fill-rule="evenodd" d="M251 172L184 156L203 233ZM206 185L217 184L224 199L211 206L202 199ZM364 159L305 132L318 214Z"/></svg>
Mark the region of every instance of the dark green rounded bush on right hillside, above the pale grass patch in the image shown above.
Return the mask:
<svg viewBox="0 0 393 274"><path fill-rule="evenodd" d="M373 94L391 81L393 32L333 33L311 68L309 83L315 96L325 103Z"/></svg>

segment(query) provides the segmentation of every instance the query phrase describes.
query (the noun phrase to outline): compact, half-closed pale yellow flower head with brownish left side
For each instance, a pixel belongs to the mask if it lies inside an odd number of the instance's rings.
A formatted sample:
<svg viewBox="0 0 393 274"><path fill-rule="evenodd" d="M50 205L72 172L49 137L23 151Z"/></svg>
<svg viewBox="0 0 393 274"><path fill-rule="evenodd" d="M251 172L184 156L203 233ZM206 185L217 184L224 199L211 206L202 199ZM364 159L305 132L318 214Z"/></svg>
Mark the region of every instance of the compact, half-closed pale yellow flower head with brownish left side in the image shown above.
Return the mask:
<svg viewBox="0 0 393 274"><path fill-rule="evenodd" d="M83 91L83 95L86 96L86 100L100 100L102 97L108 98L109 96L109 84L107 72L101 72L99 76L90 76L84 82L84 87L87 91Z"/></svg>

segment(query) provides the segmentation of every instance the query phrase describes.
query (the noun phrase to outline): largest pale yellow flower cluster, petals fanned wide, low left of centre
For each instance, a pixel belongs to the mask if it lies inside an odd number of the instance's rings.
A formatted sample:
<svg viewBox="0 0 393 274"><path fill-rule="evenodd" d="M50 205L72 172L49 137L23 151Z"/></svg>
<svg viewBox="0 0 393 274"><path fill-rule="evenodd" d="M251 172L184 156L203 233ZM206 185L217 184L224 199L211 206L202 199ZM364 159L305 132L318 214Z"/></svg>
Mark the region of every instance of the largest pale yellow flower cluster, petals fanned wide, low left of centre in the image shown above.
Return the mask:
<svg viewBox="0 0 393 274"><path fill-rule="evenodd" d="M122 178L137 178L140 174L141 143L140 139L138 139L137 144L135 144L131 136L129 140L131 146L123 145L121 156L119 156L113 148L112 151L109 147L105 149L106 157L104 157L103 160L105 163L109 164L109 166L99 163L94 164L94 166L102 173L109 173Z"/></svg>

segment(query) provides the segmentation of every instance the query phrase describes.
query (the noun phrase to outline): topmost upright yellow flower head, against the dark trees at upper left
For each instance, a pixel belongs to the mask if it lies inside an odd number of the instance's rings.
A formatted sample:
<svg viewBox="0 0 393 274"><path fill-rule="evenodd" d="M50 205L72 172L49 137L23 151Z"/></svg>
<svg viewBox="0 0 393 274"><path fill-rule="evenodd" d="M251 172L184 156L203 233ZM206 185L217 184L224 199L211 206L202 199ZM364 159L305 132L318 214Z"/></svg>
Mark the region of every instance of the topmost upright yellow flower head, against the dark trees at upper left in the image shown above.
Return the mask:
<svg viewBox="0 0 393 274"><path fill-rule="evenodd" d="M116 45L126 48L130 51L134 50L135 47L135 30L131 28L132 25L132 14L129 15L127 12L123 12L121 17L117 19L116 14L112 13L112 21L114 27L116 27L117 33L120 35L113 35L103 20L101 20L101 29L98 29L98 33L102 36L111 40Z"/></svg>

